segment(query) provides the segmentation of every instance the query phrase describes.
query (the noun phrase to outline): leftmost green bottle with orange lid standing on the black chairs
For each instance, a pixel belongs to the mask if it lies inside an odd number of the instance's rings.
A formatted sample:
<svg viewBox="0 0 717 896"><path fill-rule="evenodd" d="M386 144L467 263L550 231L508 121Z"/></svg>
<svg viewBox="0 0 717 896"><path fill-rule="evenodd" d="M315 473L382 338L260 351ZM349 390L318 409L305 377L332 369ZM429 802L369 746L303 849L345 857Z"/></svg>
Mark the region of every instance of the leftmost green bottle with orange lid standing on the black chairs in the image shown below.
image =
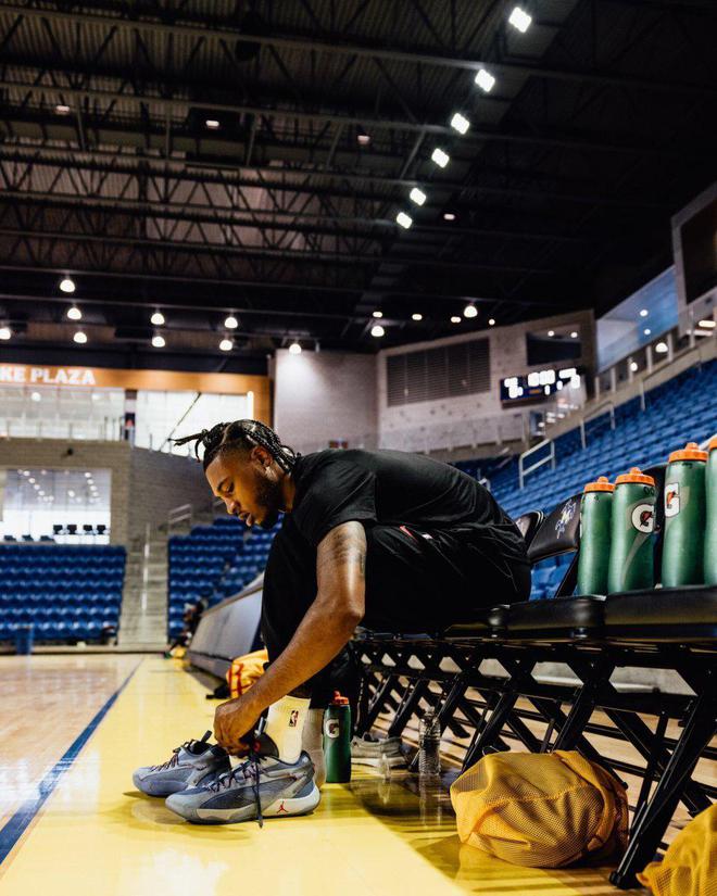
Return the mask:
<svg viewBox="0 0 717 896"><path fill-rule="evenodd" d="M615 485L601 476L588 482L582 493L576 594L607 594L614 491Z"/></svg>

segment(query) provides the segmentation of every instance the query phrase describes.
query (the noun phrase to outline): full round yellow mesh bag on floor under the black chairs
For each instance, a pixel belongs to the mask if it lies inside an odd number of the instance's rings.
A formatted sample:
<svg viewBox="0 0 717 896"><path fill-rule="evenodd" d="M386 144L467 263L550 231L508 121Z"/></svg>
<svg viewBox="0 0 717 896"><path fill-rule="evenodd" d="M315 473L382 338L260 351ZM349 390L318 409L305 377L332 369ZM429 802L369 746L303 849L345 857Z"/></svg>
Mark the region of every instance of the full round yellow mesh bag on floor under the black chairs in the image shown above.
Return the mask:
<svg viewBox="0 0 717 896"><path fill-rule="evenodd" d="M458 836L513 865L561 868L627 845L625 788L579 753L493 753L451 786Z"/></svg>

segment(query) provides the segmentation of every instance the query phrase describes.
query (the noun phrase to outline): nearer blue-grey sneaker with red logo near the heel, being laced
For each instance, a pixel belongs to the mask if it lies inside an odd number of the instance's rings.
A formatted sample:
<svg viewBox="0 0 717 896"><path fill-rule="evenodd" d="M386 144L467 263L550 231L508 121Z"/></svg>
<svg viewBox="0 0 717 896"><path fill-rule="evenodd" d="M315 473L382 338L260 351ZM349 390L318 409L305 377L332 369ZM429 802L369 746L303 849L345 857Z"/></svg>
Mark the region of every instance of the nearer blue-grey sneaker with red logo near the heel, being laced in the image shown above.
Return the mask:
<svg viewBox="0 0 717 896"><path fill-rule="evenodd" d="M211 784L167 797L172 811L196 824L299 816L312 812L320 799L314 765L302 753L295 762L282 762L274 741L261 734L249 758Z"/></svg>

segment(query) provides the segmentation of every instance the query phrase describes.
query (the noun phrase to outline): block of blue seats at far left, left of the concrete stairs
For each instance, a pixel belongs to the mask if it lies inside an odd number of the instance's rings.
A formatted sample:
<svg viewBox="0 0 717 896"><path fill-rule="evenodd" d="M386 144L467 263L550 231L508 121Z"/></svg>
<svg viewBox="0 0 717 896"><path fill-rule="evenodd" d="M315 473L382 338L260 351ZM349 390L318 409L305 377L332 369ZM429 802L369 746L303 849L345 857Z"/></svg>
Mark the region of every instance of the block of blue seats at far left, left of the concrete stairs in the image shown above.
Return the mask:
<svg viewBox="0 0 717 896"><path fill-rule="evenodd" d="M120 624L124 547L0 545L0 641L98 641Z"/></svg>

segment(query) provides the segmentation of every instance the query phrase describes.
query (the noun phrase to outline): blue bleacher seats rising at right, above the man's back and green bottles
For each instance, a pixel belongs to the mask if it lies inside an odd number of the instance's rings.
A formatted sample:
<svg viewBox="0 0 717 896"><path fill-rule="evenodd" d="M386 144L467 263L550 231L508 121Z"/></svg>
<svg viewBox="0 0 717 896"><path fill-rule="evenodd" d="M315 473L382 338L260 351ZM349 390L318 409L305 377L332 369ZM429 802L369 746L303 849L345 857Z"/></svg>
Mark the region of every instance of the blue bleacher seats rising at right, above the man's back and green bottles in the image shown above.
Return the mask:
<svg viewBox="0 0 717 896"><path fill-rule="evenodd" d="M491 491L515 519L531 510L549 510L559 501L582 492L599 476L614 480L630 466L642 468L665 463L671 451L689 441L701 442L717 431L717 362L692 367L615 408L615 429L609 412L586 427L586 447L580 429L571 429L555 440L555 469L550 464L531 474L520 489L518 463L513 459L490 477ZM628 462L629 458L629 462ZM537 459L537 458L536 458ZM488 468L486 460L456 464L471 476ZM531 600L551 596L562 579L562 570L548 560L533 571Z"/></svg>

